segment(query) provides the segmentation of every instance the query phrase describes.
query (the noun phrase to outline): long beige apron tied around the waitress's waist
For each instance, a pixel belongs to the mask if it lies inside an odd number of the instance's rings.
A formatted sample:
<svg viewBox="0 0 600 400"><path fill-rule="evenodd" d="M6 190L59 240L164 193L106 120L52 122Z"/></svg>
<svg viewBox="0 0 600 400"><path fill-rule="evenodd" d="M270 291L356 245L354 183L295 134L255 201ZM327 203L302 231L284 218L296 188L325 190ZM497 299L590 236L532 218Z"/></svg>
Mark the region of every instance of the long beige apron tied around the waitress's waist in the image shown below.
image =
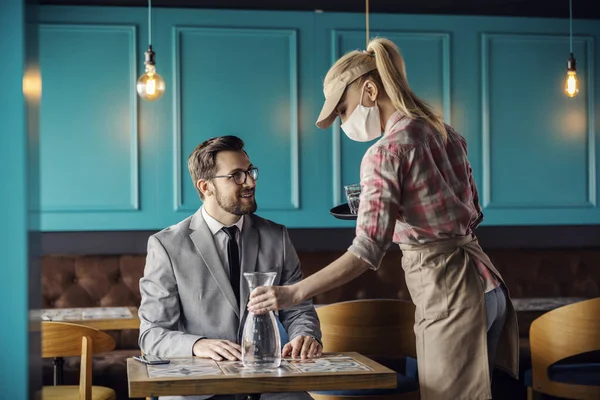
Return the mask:
<svg viewBox="0 0 600 400"><path fill-rule="evenodd" d="M415 303L421 399L491 399L481 260L504 283L474 235L424 245L401 244L406 285ZM495 364L518 379L519 332L508 295Z"/></svg>

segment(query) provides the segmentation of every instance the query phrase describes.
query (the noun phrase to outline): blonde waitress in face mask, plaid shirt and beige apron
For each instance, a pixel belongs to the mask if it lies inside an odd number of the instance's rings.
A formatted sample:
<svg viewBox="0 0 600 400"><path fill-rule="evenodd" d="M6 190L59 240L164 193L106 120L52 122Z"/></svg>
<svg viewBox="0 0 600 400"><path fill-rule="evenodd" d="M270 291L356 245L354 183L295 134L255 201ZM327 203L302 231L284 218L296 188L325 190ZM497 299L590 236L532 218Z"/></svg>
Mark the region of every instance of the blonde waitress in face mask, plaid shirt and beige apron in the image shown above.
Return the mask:
<svg viewBox="0 0 600 400"><path fill-rule="evenodd" d="M379 139L361 164L356 237L303 281L256 289L248 308L287 308L343 285L379 268L398 243L416 305L421 398L491 399L494 364L517 377L518 330L502 277L473 234L482 213L465 139L413 93L386 39L340 58L324 93L319 128L339 116L350 139Z"/></svg>

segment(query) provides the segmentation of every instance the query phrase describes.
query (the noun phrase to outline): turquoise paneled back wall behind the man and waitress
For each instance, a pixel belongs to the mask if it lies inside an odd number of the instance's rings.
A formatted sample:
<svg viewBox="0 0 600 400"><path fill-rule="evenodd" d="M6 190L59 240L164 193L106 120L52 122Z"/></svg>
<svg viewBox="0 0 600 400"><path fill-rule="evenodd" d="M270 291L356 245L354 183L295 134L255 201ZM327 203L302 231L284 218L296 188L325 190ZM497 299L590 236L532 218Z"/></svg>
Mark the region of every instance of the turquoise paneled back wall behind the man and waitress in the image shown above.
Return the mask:
<svg viewBox="0 0 600 400"><path fill-rule="evenodd" d="M167 83L138 100L143 8L43 7L42 229L160 229L200 202L187 157L242 137L261 169L259 214L288 227L341 227L329 209L358 180L370 143L314 121L322 80L364 48L364 16L155 9ZM596 204L600 24L576 20L580 93L564 95L568 21L372 15L413 89L469 143L486 225L600 223Z"/></svg>

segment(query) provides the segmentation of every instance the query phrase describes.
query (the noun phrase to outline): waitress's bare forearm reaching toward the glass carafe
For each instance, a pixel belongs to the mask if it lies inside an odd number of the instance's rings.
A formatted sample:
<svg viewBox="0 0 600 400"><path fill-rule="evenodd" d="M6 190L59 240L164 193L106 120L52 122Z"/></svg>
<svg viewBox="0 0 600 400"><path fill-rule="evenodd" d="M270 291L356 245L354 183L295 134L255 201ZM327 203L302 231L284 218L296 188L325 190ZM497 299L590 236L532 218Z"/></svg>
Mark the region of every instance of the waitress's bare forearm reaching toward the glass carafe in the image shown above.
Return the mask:
<svg viewBox="0 0 600 400"><path fill-rule="evenodd" d="M299 302L335 289L369 269L370 265L350 252L323 268L319 272L294 284Z"/></svg>

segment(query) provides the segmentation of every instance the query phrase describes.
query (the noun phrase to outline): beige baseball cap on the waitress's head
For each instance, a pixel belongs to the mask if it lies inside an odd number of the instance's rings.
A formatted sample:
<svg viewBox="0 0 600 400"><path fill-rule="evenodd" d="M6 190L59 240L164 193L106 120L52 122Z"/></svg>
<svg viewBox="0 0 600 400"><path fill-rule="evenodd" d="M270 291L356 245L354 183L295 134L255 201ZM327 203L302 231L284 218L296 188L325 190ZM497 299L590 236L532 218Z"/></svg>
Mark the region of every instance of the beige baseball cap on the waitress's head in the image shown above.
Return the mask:
<svg viewBox="0 0 600 400"><path fill-rule="evenodd" d="M375 62L361 64L358 67L349 69L330 81L325 82L325 85L323 86L325 104L323 104L319 118L317 118L317 127L321 129L329 128L331 124L333 124L333 121L335 121L335 108L344 95L348 85L376 68Z"/></svg>

